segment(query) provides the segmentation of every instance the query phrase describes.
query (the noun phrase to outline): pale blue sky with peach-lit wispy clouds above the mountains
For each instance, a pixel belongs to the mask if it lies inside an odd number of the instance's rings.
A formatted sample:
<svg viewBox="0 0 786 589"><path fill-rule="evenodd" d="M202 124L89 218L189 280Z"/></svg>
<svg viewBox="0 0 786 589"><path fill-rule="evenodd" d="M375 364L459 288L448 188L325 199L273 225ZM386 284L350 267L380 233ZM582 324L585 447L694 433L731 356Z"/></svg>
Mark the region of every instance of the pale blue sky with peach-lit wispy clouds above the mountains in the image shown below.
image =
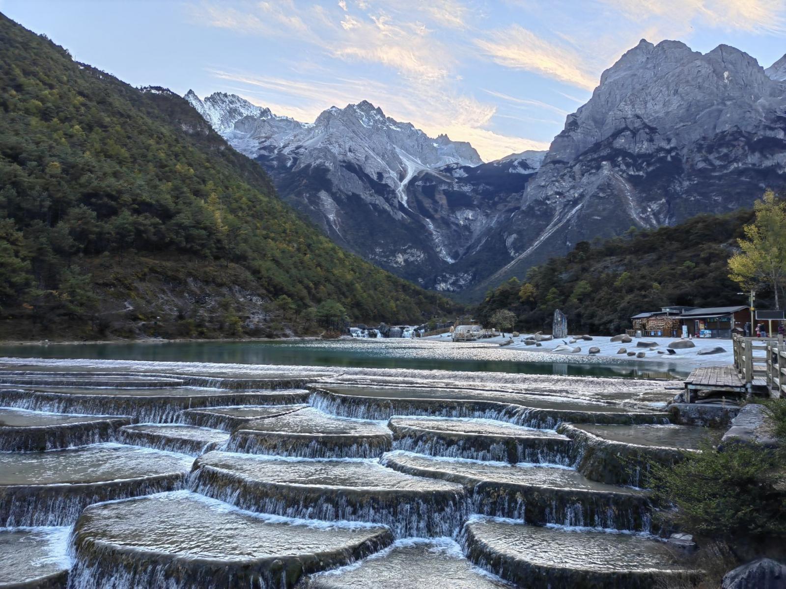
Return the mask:
<svg viewBox="0 0 786 589"><path fill-rule="evenodd" d="M486 161L548 148L641 38L725 43L763 67L786 53L786 0L0 0L0 12L134 86L236 93L309 123L368 100Z"/></svg>

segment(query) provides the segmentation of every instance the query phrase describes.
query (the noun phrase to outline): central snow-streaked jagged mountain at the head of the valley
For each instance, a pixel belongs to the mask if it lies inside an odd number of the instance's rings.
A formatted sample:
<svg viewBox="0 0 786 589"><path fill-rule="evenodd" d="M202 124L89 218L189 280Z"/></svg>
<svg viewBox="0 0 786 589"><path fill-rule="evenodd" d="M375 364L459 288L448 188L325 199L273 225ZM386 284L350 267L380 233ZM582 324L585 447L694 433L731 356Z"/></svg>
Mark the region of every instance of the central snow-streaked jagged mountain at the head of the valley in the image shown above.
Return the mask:
<svg viewBox="0 0 786 589"><path fill-rule="evenodd" d="M215 93L200 101L189 91L185 98L230 145L262 164L282 198L332 240L439 290L458 290L490 270L455 268L499 221L500 201L521 192L538 166L537 152L482 164L471 145L428 137L367 101L299 123L233 95ZM259 110L240 116L252 109ZM227 128L224 122L235 117ZM467 171L477 166L486 167L478 174ZM493 203L487 202L490 192ZM518 199L501 208L516 206Z"/></svg>

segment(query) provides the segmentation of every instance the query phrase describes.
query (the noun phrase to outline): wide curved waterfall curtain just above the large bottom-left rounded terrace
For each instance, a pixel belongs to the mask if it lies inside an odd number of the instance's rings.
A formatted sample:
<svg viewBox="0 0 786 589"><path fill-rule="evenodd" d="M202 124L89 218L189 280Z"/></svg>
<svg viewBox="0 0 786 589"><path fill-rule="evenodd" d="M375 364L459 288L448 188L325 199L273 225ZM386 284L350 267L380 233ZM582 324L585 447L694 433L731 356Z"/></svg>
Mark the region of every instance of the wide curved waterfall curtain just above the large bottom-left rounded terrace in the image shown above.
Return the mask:
<svg viewBox="0 0 786 589"><path fill-rule="evenodd" d="M201 466L189 477L189 488L244 510L288 518L324 521L371 521L389 526L396 537L454 536L467 518L463 489L455 492L332 491L329 486L296 485L281 495L274 486L244 481L231 471Z"/></svg>

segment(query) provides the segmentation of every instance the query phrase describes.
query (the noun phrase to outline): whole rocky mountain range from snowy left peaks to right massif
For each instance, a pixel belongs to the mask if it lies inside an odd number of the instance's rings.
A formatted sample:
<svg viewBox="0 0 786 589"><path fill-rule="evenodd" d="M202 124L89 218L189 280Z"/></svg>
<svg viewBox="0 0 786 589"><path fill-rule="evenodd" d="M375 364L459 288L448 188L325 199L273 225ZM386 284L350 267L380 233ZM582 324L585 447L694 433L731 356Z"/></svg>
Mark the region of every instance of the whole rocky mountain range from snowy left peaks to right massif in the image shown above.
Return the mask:
<svg viewBox="0 0 786 589"><path fill-rule="evenodd" d="M186 97L338 243L425 287L477 297L579 241L784 188L784 80L786 56L765 71L733 47L642 40L548 152L490 163L366 101L299 123L233 95Z"/></svg>

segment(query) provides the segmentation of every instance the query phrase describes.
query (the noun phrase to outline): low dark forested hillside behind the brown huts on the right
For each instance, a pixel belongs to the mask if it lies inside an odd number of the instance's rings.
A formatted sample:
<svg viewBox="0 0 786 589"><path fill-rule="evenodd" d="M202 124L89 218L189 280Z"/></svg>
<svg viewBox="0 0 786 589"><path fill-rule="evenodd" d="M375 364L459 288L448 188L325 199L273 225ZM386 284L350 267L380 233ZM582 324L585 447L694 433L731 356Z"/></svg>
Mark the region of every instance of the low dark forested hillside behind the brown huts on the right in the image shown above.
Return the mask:
<svg viewBox="0 0 786 589"><path fill-rule="evenodd" d="M550 329L554 309L562 309L571 333L615 334L630 328L630 316L667 305L744 305L727 260L752 218L751 210L703 214L674 227L577 243L487 293L477 314L488 322L495 310L511 309L520 330L534 331ZM771 293L758 296L766 306Z"/></svg>

